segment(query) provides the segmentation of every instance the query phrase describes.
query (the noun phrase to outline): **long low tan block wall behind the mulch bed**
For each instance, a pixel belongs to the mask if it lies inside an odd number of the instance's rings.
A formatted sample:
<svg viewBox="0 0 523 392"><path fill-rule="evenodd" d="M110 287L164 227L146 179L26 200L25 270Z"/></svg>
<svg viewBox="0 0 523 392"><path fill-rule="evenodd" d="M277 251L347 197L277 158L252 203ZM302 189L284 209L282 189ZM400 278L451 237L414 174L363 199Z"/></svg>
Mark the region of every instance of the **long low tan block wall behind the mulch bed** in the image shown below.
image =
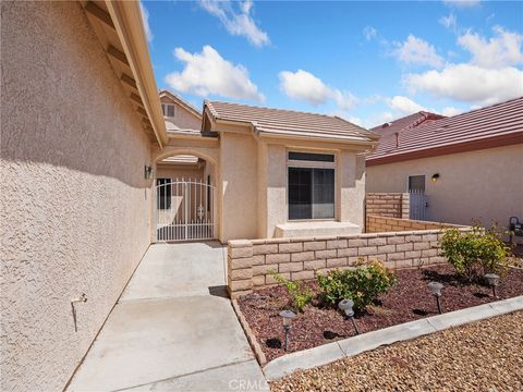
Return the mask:
<svg viewBox="0 0 523 392"><path fill-rule="evenodd" d="M467 231L470 228L460 228ZM365 233L349 236L235 240L228 243L227 284L231 298L253 289L276 284L268 270L289 280L309 280L332 269L377 259L388 268L410 268L446 262L440 255L442 231L418 230Z"/></svg>

